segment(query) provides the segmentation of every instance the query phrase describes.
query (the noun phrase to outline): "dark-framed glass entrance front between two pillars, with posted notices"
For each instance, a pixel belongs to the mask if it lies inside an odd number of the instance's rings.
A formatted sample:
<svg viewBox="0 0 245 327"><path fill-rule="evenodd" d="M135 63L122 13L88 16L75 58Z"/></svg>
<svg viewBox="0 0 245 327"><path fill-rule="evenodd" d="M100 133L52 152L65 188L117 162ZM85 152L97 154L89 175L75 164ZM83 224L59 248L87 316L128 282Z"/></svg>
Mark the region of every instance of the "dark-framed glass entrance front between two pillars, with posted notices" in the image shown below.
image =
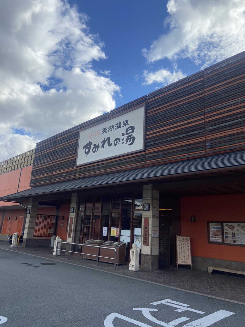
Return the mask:
<svg viewBox="0 0 245 327"><path fill-rule="evenodd" d="M129 262L132 244L138 242L141 247L142 193L80 197L78 208L76 242L124 242Z"/></svg>

